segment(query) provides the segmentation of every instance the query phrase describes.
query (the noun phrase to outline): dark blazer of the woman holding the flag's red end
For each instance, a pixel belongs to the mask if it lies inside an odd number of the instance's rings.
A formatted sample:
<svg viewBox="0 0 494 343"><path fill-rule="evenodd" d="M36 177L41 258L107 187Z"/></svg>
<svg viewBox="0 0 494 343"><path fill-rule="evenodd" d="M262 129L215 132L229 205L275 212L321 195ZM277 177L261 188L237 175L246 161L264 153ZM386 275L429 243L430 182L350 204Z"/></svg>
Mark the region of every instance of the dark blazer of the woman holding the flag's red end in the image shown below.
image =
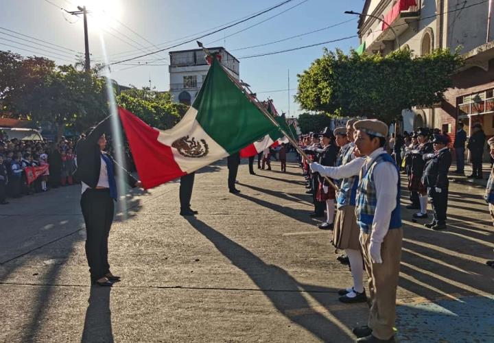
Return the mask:
<svg viewBox="0 0 494 343"><path fill-rule="evenodd" d="M75 146L75 152L77 154L77 169L74 171L74 176L78 180L81 180L91 188L97 186L99 180L99 169L101 169L101 154L98 141L99 137L103 134L111 133L111 117L106 117L102 122L86 136L78 141ZM105 153L106 154L106 153ZM125 180L130 187L135 187L137 179L130 175L126 169L121 167L109 154L106 154L108 158L113 161L113 170L115 174L121 174L125 176Z"/></svg>

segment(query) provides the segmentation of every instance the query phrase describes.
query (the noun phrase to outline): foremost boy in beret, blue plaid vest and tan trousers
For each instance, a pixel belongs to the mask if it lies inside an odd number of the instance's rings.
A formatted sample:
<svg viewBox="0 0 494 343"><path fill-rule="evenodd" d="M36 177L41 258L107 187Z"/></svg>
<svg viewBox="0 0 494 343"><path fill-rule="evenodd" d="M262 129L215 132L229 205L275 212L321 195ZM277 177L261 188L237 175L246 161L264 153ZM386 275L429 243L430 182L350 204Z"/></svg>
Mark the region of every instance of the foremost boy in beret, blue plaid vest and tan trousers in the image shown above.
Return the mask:
<svg viewBox="0 0 494 343"><path fill-rule="evenodd" d="M367 327L353 332L360 337L357 342L393 342L403 239L399 169L383 149L388 134L386 123L366 119L357 121L354 127L357 150L366 156L360 171L355 215L372 305Z"/></svg>

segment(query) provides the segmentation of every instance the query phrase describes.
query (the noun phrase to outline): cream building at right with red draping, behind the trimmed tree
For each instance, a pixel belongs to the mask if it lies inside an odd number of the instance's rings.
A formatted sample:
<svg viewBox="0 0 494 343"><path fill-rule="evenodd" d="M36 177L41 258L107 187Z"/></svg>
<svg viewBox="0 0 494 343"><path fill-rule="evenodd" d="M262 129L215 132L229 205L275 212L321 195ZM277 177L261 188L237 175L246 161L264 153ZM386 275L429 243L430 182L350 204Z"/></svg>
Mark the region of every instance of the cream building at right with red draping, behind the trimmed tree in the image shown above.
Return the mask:
<svg viewBox="0 0 494 343"><path fill-rule="evenodd" d="M408 48L416 55L460 47L466 64L454 75L445 101L434 108L403 110L402 130L440 128L454 139L456 123L480 122L494 134L494 25L489 3L480 0L366 0L358 24L360 49L388 54ZM377 19L377 18L379 19ZM384 22L385 23L384 23ZM489 31L489 33L488 33ZM491 67L492 66L492 67ZM399 75L397 75L399 77ZM416 82L427 82L417 75Z"/></svg>

